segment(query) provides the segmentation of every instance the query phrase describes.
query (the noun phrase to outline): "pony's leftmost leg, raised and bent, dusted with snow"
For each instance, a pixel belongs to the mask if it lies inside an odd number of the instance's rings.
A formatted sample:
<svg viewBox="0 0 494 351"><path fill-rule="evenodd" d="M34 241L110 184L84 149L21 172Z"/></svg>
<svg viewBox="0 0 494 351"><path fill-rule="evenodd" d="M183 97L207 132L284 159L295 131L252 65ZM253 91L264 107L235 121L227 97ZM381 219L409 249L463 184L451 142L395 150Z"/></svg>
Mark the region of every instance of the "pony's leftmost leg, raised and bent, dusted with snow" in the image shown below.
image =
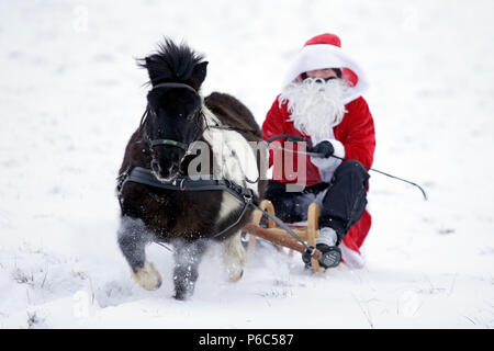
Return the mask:
<svg viewBox="0 0 494 351"><path fill-rule="evenodd" d="M123 217L117 233L119 246L131 265L134 279L145 290L157 290L161 285L161 275L151 263L146 261L145 247L151 240L143 220Z"/></svg>

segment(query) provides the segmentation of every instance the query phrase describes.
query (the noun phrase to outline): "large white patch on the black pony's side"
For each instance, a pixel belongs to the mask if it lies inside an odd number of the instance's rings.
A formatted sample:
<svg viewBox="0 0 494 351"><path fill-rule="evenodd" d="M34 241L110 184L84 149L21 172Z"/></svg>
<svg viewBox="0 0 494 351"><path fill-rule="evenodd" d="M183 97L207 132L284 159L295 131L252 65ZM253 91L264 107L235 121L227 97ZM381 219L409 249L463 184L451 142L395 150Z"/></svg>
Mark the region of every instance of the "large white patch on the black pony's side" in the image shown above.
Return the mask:
<svg viewBox="0 0 494 351"><path fill-rule="evenodd" d="M221 121L204 104L202 111L207 125L222 125ZM211 145L213 152L213 170L215 179L227 179L238 185L246 186L257 195L257 183L246 182L246 177L255 180L258 177L257 161L254 149L247 139L235 131L206 128L204 139ZM225 218L232 211L243 206L243 203L227 192L223 200L217 220Z"/></svg>

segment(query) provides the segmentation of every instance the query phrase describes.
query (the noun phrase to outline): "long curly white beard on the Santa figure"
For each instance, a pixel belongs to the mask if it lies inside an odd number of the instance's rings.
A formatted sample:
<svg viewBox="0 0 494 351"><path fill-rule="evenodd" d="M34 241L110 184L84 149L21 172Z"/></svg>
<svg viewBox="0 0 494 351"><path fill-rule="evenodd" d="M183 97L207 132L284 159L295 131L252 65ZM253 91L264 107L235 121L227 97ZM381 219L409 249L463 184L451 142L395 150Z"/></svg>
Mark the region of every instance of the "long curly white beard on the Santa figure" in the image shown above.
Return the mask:
<svg viewBox="0 0 494 351"><path fill-rule="evenodd" d="M343 79L306 78L302 82L288 84L280 95L281 104L288 102L290 120L301 133L316 139L334 138L345 113L343 98L349 88Z"/></svg>

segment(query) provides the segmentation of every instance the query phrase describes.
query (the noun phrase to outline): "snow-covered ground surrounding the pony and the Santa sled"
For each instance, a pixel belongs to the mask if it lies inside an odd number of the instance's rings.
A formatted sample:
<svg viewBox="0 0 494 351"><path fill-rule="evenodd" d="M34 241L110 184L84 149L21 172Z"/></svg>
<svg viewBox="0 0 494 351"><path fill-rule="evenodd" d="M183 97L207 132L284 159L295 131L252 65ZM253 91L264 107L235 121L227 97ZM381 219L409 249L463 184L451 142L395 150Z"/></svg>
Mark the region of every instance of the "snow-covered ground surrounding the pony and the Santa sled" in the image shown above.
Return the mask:
<svg viewBox="0 0 494 351"><path fill-rule="evenodd" d="M494 3L1 1L1 328L493 328ZM164 36L210 60L204 92L262 123L291 57L334 32L374 115L367 268L319 276L257 250L228 283L218 248L188 302L138 287L116 242L115 176L145 105L134 58ZM310 318L306 318L307 313Z"/></svg>

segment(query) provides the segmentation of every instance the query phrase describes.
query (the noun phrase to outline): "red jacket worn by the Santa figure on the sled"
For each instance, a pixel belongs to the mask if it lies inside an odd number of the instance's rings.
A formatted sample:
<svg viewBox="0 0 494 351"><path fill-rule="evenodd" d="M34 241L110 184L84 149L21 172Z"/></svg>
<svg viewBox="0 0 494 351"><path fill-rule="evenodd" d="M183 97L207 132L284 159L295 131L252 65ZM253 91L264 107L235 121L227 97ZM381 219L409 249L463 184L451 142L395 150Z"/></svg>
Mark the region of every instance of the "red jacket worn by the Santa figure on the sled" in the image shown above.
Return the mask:
<svg viewBox="0 0 494 351"><path fill-rule="evenodd" d="M375 149L375 133L372 115L369 111L369 106L363 98L358 98L348 104L346 104L346 114L340 124L334 127L333 132L335 139L343 144L345 149L345 158L357 160L366 167L371 167L373 161L373 155ZM303 135L295 129L293 122L288 121L290 113L287 111L287 103L280 106L279 97L276 99L271 109L269 110L266 121L262 124L262 137L265 140L280 135L291 134L311 139L310 136ZM285 139L280 139L282 146L287 146ZM297 148L294 146L293 148ZM283 152L278 149L269 149L269 166L273 165L274 152L282 152L283 161L280 163L274 162L273 178L283 183L305 183L306 186L311 186L322 182L321 170L311 161L310 157L300 154ZM281 154L277 155L277 158ZM287 157L292 157L293 174L284 171L285 167L283 162ZM299 157L305 159L305 172L297 174ZM278 168L278 169L277 169ZM281 168L281 169L280 169ZM303 174L305 173L305 174ZM281 176L281 177L280 177ZM302 177L301 180L299 177ZM344 244L347 248L359 252L359 248L362 245L371 226L371 217L368 211L364 212L362 218L353 225L350 231L344 239Z"/></svg>

